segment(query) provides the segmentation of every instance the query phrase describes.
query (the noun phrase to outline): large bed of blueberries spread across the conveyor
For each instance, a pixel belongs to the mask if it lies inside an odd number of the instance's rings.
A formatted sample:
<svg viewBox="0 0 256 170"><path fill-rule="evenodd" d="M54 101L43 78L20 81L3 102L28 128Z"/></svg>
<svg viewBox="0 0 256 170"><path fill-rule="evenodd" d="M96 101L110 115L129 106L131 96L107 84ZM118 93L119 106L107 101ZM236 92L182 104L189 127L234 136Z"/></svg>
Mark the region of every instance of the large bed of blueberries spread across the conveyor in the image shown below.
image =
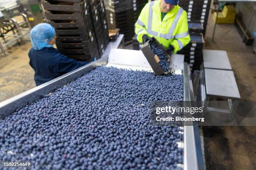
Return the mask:
<svg viewBox="0 0 256 170"><path fill-rule="evenodd" d="M97 67L0 120L0 161L32 169L180 169L179 127L150 122L153 101L183 100L182 75Z"/></svg>

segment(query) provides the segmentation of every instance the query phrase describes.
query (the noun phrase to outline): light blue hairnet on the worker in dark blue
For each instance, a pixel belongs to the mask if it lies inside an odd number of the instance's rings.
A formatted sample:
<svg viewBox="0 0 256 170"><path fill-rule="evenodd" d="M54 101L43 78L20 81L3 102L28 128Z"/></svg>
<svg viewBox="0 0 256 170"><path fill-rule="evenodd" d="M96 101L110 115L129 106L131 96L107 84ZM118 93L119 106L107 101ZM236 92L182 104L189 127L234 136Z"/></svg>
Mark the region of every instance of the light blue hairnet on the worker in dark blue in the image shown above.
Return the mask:
<svg viewBox="0 0 256 170"><path fill-rule="evenodd" d="M30 40L35 50L41 50L44 47L53 47L48 42L54 37L54 28L47 23L36 25L30 32Z"/></svg>

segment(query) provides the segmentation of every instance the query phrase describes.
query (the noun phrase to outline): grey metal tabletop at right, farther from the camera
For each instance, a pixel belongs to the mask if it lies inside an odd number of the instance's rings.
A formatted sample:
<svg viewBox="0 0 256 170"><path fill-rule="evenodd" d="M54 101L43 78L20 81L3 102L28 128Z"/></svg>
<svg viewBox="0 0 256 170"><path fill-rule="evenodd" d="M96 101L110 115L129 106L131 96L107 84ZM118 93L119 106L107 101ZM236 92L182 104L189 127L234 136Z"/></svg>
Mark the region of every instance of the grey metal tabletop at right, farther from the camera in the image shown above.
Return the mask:
<svg viewBox="0 0 256 170"><path fill-rule="evenodd" d="M226 51L203 50L203 57L205 68L232 70Z"/></svg>

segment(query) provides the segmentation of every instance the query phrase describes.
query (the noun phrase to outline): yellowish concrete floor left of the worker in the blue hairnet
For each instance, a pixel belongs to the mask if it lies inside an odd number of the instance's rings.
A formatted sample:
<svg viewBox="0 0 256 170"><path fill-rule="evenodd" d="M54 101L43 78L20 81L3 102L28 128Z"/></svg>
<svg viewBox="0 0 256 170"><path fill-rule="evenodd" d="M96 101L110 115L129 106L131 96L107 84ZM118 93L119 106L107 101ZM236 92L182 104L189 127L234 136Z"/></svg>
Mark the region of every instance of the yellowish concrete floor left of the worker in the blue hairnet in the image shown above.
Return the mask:
<svg viewBox="0 0 256 170"><path fill-rule="evenodd" d="M0 55L0 102L36 87L34 70L28 64L31 43L6 49L8 56Z"/></svg>

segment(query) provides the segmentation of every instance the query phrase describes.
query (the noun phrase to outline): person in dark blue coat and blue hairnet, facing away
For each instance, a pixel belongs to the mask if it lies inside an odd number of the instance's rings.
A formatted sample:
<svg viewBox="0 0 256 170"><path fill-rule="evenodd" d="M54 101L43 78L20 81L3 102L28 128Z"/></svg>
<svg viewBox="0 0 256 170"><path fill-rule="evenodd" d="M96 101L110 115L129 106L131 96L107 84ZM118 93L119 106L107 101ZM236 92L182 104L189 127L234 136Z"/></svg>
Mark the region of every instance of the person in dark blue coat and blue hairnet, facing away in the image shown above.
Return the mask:
<svg viewBox="0 0 256 170"><path fill-rule="evenodd" d="M33 47L28 52L29 65L35 70L37 86L87 64L72 60L53 47L56 34L47 23L36 25L31 30L30 38Z"/></svg>

